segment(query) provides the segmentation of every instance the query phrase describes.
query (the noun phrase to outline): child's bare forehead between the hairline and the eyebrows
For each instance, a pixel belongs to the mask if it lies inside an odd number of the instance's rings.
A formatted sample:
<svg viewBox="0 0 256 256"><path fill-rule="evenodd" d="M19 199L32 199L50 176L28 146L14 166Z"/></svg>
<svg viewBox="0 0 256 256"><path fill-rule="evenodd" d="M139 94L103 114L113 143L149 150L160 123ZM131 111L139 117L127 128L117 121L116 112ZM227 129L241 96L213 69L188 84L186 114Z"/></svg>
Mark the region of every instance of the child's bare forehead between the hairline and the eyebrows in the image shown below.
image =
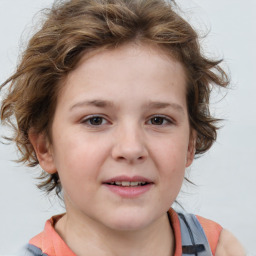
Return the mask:
<svg viewBox="0 0 256 256"><path fill-rule="evenodd" d="M124 91L131 98L141 95L146 99L148 93L157 98L168 89L174 97L177 91L185 96L186 75L182 64L160 47L130 43L85 53L64 84L62 93L74 101L90 94L111 100Z"/></svg>

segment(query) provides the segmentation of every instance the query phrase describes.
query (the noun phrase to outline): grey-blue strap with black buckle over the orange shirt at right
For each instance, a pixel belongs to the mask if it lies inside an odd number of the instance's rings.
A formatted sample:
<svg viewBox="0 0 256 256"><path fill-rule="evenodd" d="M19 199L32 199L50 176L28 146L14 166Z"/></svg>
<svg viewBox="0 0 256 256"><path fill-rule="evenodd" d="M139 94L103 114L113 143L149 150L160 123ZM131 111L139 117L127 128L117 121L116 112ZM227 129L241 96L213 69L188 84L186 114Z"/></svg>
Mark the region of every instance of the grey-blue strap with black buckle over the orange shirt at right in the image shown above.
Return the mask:
<svg viewBox="0 0 256 256"><path fill-rule="evenodd" d="M193 214L178 213L182 256L213 256L205 232Z"/></svg>

